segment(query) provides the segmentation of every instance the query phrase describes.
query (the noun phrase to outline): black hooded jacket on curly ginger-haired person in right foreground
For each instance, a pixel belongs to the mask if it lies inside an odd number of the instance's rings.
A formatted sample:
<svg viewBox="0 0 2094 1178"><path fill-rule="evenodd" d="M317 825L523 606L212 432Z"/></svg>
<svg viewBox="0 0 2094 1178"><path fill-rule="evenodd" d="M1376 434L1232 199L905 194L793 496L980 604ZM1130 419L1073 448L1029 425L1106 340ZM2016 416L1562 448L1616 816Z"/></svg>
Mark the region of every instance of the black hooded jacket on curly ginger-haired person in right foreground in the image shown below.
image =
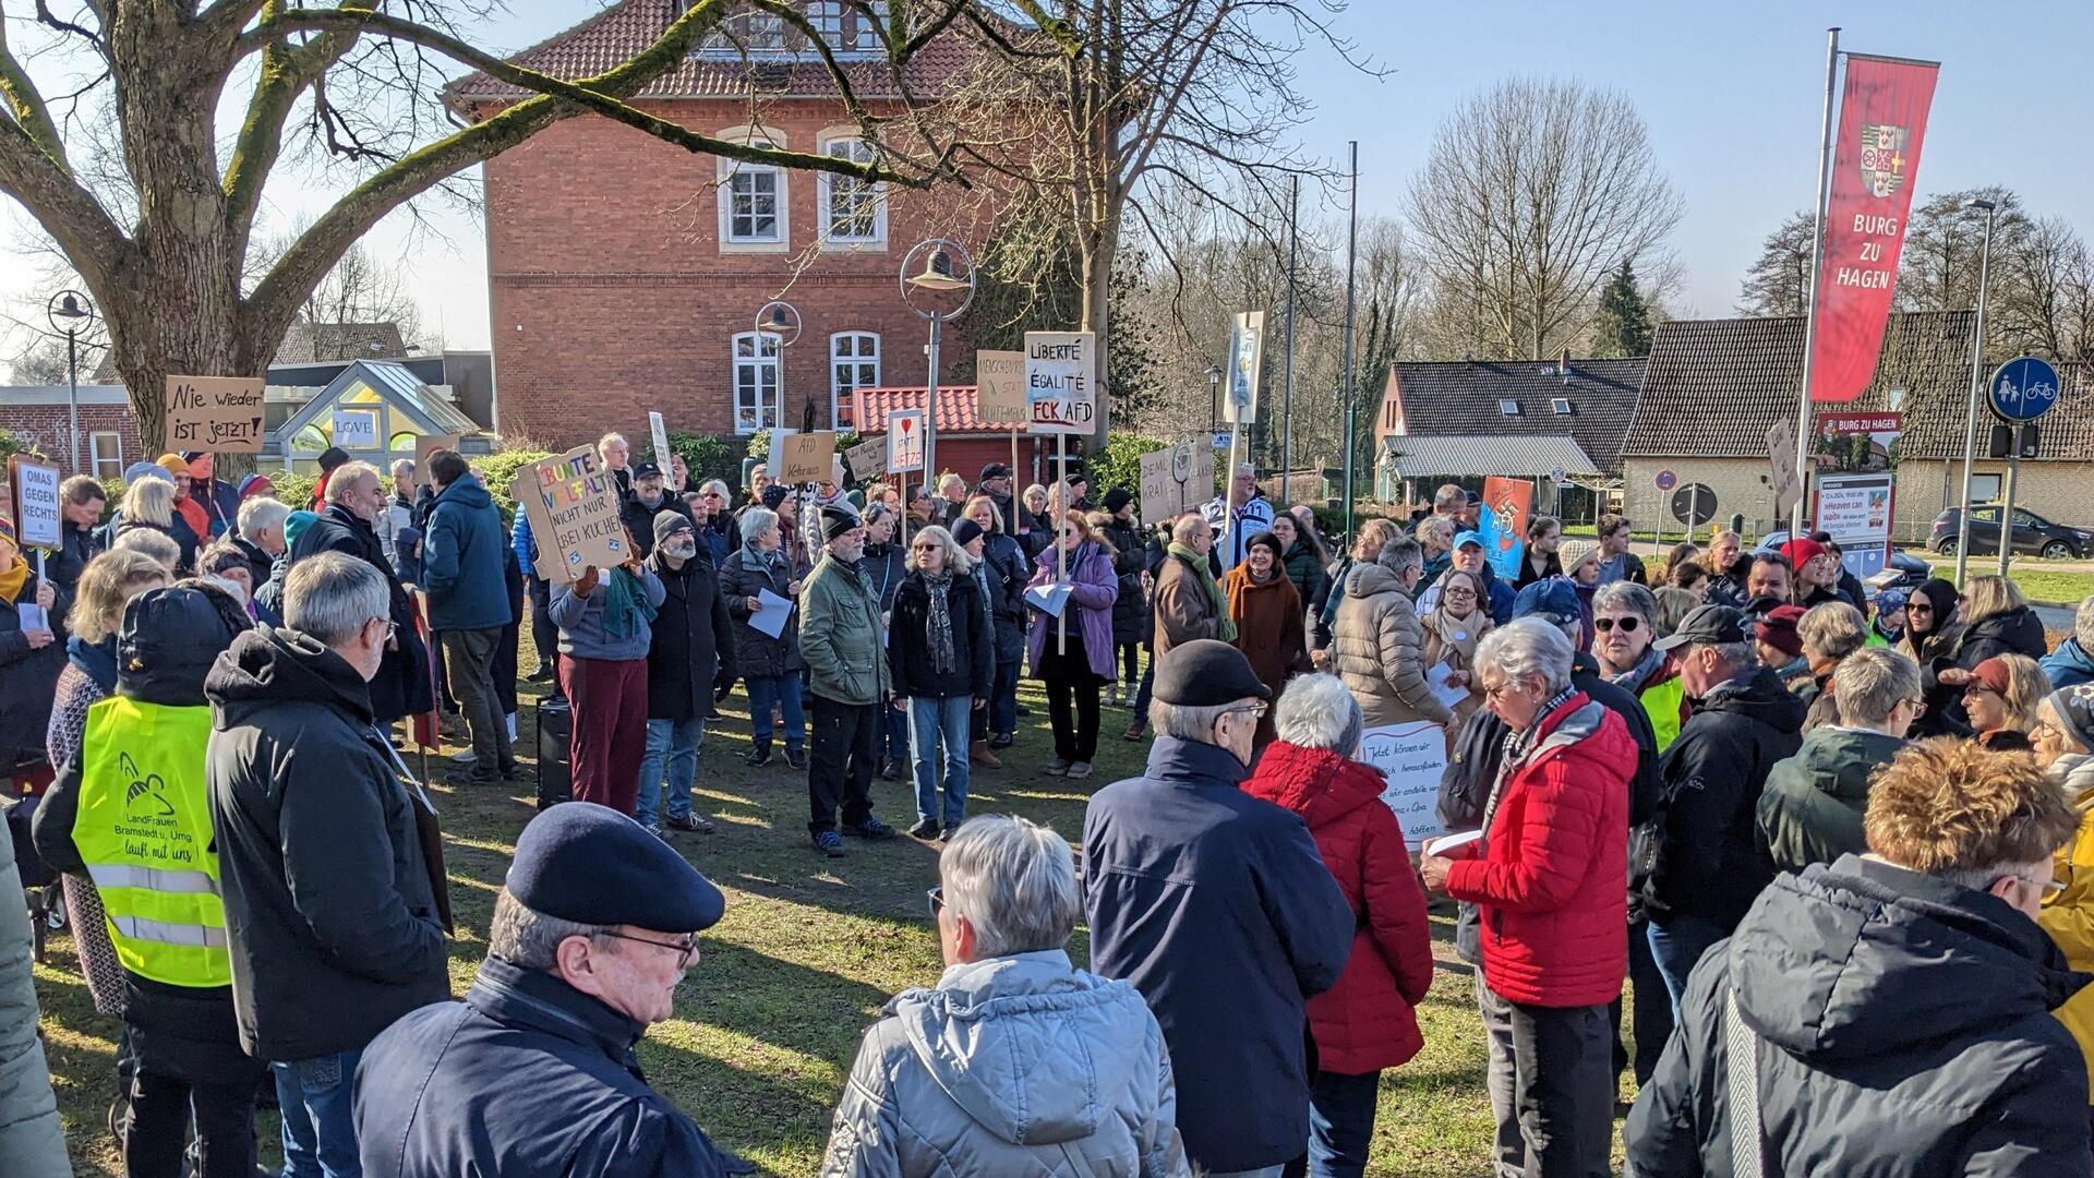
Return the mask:
<svg viewBox="0 0 2094 1178"><path fill-rule="evenodd" d="M1993 895L1855 855L1784 874L1690 975L1629 1111L1629 1172L1740 1178L1736 994L1757 1038L1765 1174L2094 1174L2086 1061L2050 1015L2088 981Z"/></svg>

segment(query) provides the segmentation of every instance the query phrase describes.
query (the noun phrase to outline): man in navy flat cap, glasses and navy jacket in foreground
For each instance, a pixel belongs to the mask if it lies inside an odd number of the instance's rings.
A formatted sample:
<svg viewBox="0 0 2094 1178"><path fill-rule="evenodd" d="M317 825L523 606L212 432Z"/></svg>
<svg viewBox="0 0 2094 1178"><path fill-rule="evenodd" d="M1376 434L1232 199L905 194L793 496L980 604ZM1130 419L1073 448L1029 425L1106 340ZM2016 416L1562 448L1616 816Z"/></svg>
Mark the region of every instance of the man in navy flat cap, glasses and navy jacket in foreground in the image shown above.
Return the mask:
<svg viewBox="0 0 2094 1178"><path fill-rule="evenodd" d="M371 1178L603 1174L714 1178L745 1163L649 1088L632 1048L674 1012L720 889L595 803L517 838L488 958L465 1002L402 1015L356 1069Z"/></svg>

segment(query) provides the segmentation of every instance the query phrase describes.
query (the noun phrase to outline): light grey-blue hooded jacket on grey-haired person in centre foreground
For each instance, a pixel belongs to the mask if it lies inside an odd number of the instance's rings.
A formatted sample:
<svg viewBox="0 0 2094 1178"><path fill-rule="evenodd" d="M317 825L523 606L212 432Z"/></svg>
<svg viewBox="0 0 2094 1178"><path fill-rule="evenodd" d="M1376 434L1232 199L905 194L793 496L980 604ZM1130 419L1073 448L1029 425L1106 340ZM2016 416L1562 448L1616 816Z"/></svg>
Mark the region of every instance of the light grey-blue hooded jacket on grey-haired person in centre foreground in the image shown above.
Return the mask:
<svg viewBox="0 0 2094 1178"><path fill-rule="evenodd" d="M865 1033L823 1178L1191 1174L1162 1029L1062 950L909 989Z"/></svg>

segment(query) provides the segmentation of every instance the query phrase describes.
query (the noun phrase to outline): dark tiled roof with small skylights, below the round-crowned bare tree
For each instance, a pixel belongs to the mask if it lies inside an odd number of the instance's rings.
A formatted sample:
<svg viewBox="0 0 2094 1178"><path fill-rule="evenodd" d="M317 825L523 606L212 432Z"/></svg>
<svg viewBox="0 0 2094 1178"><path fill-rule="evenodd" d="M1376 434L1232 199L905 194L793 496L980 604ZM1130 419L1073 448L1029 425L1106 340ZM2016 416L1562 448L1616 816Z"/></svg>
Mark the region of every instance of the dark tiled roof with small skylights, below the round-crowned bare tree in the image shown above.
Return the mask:
<svg viewBox="0 0 2094 1178"><path fill-rule="evenodd" d="M1589 470L1617 472L1644 361L1570 361L1568 379L1556 361L1401 363L1390 365L1388 384L1403 402L1403 432L1411 438L1570 436L1600 463L1587 463ZM1558 398L1570 402L1568 415L1556 413ZM1506 413L1501 400L1520 411Z"/></svg>

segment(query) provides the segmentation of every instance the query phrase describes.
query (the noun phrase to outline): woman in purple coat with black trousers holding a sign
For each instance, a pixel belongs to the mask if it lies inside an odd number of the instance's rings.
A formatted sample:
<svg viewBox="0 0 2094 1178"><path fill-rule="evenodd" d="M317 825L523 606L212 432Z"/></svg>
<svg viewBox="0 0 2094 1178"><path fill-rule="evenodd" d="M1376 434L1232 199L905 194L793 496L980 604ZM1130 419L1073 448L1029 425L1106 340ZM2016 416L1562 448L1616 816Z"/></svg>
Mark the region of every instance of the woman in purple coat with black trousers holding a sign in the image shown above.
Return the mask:
<svg viewBox="0 0 2094 1178"><path fill-rule="evenodd" d="M1089 778L1097 755L1097 692L1114 681L1112 602L1120 581L1112 572L1112 545L1091 530L1083 511L1066 511L1057 547L1034 560L1026 606L1032 614L1032 677L1047 685L1047 715L1053 721L1055 778ZM1060 553L1068 553L1068 643L1057 641L1060 623L1039 606L1041 591L1055 585Z"/></svg>

